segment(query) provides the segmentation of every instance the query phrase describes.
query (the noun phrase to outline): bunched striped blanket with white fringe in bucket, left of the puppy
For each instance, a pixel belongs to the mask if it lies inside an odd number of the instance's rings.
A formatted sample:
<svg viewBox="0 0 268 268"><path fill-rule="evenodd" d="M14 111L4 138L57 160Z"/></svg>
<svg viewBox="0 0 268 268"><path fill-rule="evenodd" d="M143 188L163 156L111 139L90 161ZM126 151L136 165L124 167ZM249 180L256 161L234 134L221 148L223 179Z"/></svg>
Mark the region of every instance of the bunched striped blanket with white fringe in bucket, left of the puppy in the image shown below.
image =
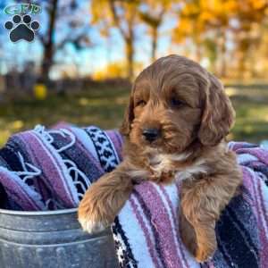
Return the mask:
<svg viewBox="0 0 268 268"><path fill-rule="evenodd" d="M115 130L64 123L13 135L0 150L1 207L77 207L90 184L121 162L121 144Z"/></svg>

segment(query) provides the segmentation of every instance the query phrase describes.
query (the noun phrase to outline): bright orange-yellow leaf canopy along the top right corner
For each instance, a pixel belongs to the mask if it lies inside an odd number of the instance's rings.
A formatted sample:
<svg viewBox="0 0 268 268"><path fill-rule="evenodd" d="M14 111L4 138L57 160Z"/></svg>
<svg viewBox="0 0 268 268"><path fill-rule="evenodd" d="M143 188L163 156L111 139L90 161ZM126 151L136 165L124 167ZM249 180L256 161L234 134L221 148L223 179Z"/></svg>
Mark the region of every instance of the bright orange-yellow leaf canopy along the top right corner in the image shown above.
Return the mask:
<svg viewBox="0 0 268 268"><path fill-rule="evenodd" d="M209 30L228 29L233 18L248 31L252 23L264 19L266 5L267 0L189 0L182 5L173 40L181 43L191 38L196 43Z"/></svg>

